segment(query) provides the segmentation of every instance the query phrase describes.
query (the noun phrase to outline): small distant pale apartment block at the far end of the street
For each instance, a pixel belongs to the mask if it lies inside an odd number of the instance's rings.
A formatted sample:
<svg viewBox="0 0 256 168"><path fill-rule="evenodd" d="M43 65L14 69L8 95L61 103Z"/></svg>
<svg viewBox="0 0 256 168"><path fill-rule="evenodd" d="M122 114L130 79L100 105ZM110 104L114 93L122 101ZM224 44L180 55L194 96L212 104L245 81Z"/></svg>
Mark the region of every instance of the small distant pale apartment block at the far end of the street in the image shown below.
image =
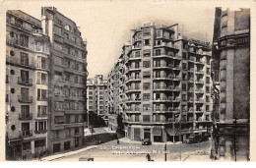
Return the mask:
<svg viewBox="0 0 256 168"><path fill-rule="evenodd" d="M99 118L95 121L98 125L107 125L107 81L102 75L87 81L88 112L96 114ZM99 119L102 119L99 121ZM93 121L92 121L93 122ZM103 123L100 123L103 122Z"/></svg>

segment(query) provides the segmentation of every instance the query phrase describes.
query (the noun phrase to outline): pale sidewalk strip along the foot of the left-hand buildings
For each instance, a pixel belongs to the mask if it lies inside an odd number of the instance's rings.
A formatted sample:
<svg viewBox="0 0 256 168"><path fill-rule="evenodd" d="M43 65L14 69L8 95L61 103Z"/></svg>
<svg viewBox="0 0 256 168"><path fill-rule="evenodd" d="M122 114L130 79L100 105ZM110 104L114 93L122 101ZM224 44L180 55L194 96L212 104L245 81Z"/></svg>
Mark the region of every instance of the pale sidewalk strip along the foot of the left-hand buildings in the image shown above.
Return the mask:
<svg viewBox="0 0 256 168"><path fill-rule="evenodd" d="M41 161L53 161L53 160L58 159L58 158L70 156L70 155L73 155L73 154L76 154L76 153L79 153L79 152L83 152L83 151L86 151L86 150L90 150L90 149L93 149L93 148L96 148L96 147L97 147L97 145L91 145L91 146L81 148L79 150L74 150L74 151L70 151L70 152L66 152L66 153L59 153L59 154L55 154L55 155L46 156L46 157L43 157L41 159Z"/></svg>

